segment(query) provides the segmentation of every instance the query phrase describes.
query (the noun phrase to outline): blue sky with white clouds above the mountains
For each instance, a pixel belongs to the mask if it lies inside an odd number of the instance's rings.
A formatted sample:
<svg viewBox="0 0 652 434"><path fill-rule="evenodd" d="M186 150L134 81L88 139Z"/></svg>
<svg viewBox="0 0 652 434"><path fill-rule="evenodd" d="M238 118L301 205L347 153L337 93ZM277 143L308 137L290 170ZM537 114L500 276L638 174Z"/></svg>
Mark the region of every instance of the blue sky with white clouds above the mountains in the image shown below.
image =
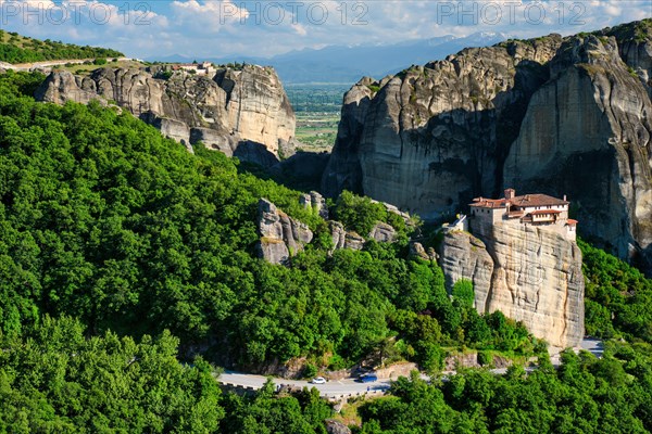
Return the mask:
<svg viewBox="0 0 652 434"><path fill-rule="evenodd" d="M0 0L3 29L115 48L141 59L238 60L477 31L569 35L650 16L652 0Z"/></svg>

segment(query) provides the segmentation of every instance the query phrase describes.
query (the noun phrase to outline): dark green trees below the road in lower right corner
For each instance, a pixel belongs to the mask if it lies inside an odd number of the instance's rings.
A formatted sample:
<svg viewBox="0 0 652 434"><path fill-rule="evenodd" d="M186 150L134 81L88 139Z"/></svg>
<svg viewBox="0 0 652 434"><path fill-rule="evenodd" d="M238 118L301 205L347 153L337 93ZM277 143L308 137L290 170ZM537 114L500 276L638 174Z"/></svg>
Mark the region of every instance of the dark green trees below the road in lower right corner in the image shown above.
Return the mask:
<svg viewBox="0 0 652 434"><path fill-rule="evenodd" d="M393 396L365 404L361 433L647 433L652 348L609 343L604 357L566 350L562 366L526 375L467 370L426 384L401 378Z"/></svg>

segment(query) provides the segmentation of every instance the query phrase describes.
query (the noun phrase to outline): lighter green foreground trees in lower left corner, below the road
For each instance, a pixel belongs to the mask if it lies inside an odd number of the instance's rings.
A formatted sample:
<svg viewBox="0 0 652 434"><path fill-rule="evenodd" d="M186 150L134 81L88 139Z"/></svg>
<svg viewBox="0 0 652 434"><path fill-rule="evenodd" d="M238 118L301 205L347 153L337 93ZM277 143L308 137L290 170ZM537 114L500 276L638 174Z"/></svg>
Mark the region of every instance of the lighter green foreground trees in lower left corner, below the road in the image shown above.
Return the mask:
<svg viewBox="0 0 652 434"><path fill-rule="evenodd" d="M177 344L168 332L87 339L68 317L0 334L0 432L325 433L333 410L316 390L223 395L218 372L201 358L179 363Z"/></svg>

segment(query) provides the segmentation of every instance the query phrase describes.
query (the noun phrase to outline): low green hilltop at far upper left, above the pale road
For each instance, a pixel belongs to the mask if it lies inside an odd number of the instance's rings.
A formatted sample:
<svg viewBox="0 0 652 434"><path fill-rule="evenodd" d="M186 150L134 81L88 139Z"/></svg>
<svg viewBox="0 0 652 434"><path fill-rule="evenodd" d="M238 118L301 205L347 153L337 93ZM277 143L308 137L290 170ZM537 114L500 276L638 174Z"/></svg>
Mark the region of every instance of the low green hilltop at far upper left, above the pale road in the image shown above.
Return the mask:
<svg viewBox="0 0 652 434"><path fill-rule="evenodd" d="M27 38L13 31L0 30L0 62L30 63L73 59L123 58L120 51L98 47L82 47L46 39Z"/></svg>

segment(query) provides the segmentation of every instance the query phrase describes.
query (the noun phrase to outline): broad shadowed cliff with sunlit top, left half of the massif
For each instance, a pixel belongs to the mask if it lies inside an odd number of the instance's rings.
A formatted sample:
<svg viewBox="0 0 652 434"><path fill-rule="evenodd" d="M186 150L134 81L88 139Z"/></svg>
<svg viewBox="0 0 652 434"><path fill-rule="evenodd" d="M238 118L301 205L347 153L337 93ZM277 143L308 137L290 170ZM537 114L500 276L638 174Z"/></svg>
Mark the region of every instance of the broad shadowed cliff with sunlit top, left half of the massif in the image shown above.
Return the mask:
<svg viewBox="0 0 652 434"><path fill-rule="evenodd" d="M502 153L561 42L552 35L531 46L467 49L361 80L344 97L323 192L348 189L434 219L476 190L498 189Z"/></svg>

